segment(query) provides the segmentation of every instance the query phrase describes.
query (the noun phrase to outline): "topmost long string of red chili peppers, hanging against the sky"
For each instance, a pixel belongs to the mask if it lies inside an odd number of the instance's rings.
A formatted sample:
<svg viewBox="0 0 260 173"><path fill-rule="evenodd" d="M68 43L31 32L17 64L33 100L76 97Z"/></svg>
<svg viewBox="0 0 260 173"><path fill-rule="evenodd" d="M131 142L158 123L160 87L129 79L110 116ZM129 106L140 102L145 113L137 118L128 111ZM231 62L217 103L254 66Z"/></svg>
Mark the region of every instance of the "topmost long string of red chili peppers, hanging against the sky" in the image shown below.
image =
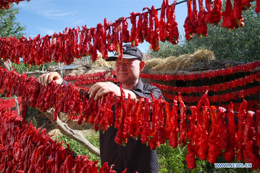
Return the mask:
<svg viewBox="0 0 260 173"><path fill-rule="evenodd" d="M256 11L260 9L260 5L257 0ZM182 1L185 2L185 1ZM180 3L182 3L180 2ZM193 0L193 9L191 9L191 1L187 1L188 16L185 20L185 37L191 39L192 34L196 32L200 37L207 35L206 23L218 24L222 18L222 2L220 0L214 1L213 4L206 1L207 12L204 10L202 0L199 0L200 12L197 17L196 1ZM227 2L229 3L229 1ZM158 21L157 12L159 9L155 9L152 6L151 9L145 7L148 12L144 13L130 13L130 21L132 24L131 33L129 34L128 22L126 18L121 17L115 20L115 23L106 21L104 19L104 25L101 23L97 24L96 28L88 29L85 26L77 27L76 29L67 28L62 33L54 33L52 36L46 35L44 37L38 36L33 39L29 37L16 37L0 38L0 57L6 61L10 59L11 62L19 64L20 57L23 59L25 64L40 65L51 61L64 62L68 65L74 62L74 58L81 58L81 56L91 55L93 61L97 60L97 51L102 54L102 58L108 58L108 51L117 51L119 60L123 54L123 42L131 43L132 46L138 46L139 42L142 43L144 40L149 42L150 49L152 51L158 51L159 40L168 40L172 44L178 44L178 25L175 20L175 6L179 4L175 0L172 5L169 4L168 0L163 1L161 6L160 21ZM243 8L240 8L240 6ZM228 4L227 4L228 6ZM231 11L224 13L226 16L224 20L231 19L235 28L242 27L244 25L241 11L250 7L249 1L235 0L233 13ZM232 4L227 7L232 9ZM165 22L165 11L167 22ZM149 14L149 20L148 20ZM231 15L232 14L232 15ZM139 16L138 22L136 16ZM231 17L229 17L231 16ZM223 22L225 27L227 23ZM233 26L231 23L230 26ZM122 26L121 26L122 25ZM229 29L232 27L228 26ZM112 34L111 33L112 27ZM108 33L107 33L108 30ZM160 32L161 30L161 32ZM119 36L120 33L120 36ZM51 39L51 40L50 40ZM79 40L79 43L78 43Z"/></svg>

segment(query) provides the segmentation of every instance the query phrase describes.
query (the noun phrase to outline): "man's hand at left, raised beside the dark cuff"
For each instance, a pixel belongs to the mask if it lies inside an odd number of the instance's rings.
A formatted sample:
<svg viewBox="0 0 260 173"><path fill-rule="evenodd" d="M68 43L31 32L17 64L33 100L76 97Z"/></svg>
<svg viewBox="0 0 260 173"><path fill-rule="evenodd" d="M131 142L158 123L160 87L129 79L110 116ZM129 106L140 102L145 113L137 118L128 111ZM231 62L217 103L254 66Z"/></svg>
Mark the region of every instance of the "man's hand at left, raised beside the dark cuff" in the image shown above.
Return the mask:
<svg viewBox="0 0 260 173"><path fill-rule="evenodd" d="M51 83L51 81L54 80L57 85L61 85L62 84L62 78L59 75L58 72L49 72L43 75L40 75L38 81L45 86L48 86L49 83Z"/></svg>

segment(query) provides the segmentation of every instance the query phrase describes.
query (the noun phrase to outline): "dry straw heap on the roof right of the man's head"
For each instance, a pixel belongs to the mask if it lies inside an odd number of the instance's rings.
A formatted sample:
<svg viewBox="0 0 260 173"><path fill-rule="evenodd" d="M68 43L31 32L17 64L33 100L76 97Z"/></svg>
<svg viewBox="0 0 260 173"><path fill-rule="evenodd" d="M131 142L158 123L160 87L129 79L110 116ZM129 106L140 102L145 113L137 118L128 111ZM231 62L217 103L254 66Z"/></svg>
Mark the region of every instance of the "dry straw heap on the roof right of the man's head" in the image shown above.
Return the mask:
<svg viewBox="0 0 260 173"><path fill-rule="evenodd" d="M189 70L194 67L204 66L214 60L215 56L212 51L207 49L199 49L192 55L184 54L178 57L170 56L167 58L153 58L145 61L145 71L161 70L161 71L179 71Z"/></svg>

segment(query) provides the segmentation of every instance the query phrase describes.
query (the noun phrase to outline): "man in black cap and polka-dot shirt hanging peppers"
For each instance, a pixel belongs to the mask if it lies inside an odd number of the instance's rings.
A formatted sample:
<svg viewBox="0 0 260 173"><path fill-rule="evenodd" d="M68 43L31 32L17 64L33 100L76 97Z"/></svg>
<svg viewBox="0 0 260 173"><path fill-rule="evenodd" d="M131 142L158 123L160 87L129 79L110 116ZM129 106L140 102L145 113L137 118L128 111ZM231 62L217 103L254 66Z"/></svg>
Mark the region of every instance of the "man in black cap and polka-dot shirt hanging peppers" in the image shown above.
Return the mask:
<svg viewBox="0 0 260 173"><path fill-rule="evenodd" d="M137 47L132 47L130 44L123 46L123 59L118 60L118 55L108 57L106 61L116 61L115 73L121 83L126 97L128 93L131 98L140 99L141 97L148 97L150 100L151 93L154 93L155 98L162 96L161 90L153 85L144 84L139 78L139 73L142 72L145 62L143 61L143 54ZM57 82L58 85L66 84L57 72L51 72L41 75L39 82L47 86L51 80ZM89 90L90 98L97 100L99 97L115 92L115 96L120 96L119 84L115 85L111 82L95 83ZM115 106L112 107L115 116ZM114 125L114 124L113 124ZM117 129L109 127L103 134L99 133L99 147L101 164L108 162L108 165L115 165L114 170L122 172L127 168L127 172L139 173L157 173L158 172L158 158L156 150L151 150L150 147L142 144L141 140L135 140L132 137L128 138L126 146L120 146L115 143L115 136Z"/></svg>

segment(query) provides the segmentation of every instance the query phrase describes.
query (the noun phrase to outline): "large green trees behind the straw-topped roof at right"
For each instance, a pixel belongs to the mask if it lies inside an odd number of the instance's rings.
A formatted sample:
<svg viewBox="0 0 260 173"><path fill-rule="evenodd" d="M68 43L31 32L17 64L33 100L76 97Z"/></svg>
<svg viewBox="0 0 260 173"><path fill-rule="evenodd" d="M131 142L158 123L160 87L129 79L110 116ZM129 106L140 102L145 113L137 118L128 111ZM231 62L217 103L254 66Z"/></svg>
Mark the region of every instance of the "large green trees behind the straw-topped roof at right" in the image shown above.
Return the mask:
<svg viewBox="0 0 260 173"><path fill-rule="evenodd" d="M180 31L180 43L173 45L170 42L160 42L158 52L150 51L152 57L179 56L192 54L195 50L203 48L215 53L217 59L231 59L235 61L253 61L260 58L260 14L255 12L256 3L252 2L250 10L242 12L245 26L242 29L228 31L218 25L208 25L208 36L199 38L193 34L192 40L185 40L185 33ZM225 5L225 2L223 2ZM223 7L223 11L224 11Z"/></svg>

